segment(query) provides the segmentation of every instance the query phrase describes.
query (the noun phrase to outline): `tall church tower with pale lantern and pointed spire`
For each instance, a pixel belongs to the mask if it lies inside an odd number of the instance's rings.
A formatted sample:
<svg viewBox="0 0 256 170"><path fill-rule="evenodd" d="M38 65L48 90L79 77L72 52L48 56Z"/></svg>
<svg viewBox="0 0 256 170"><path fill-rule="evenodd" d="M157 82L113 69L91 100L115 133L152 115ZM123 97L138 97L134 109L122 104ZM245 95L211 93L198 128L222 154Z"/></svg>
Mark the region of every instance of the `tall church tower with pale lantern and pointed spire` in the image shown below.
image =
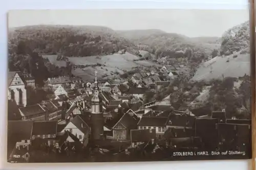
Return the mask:
<svg viewBox="0 0 256 170"><path fill-rule="evenodd" d="M92 113L91 113L91 129L92 129L92 139L99 140L103 139L104 136L104 118L102 113L101 99L99 98L99 87L97 82L97 72L95 71L95 83L93 89L92 98Z"/></svg>

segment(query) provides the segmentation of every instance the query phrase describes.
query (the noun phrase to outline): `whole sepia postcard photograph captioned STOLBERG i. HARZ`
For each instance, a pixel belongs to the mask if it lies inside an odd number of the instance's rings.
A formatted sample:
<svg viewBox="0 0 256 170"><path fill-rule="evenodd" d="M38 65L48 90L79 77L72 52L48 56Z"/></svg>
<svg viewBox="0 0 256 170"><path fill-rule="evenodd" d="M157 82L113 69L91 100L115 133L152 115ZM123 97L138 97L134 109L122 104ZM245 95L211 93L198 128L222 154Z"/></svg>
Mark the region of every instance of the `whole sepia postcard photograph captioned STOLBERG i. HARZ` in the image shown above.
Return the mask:
<svg viewBox="0 0 256 170"><path fill-rule="evenodd" d="M12 10L7 161L251 158L249 10Z"/></svg>

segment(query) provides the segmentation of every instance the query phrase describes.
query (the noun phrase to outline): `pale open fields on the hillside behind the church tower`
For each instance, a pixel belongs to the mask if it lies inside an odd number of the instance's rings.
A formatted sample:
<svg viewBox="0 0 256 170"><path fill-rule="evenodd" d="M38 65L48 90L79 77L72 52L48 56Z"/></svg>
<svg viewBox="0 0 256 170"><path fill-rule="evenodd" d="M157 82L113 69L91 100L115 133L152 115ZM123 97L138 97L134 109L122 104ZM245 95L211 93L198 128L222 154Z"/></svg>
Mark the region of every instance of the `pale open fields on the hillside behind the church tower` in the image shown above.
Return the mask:
<svg viewBox="0 0 256 170"><path fill-rule="evenodd" d="M52 64L57 66L66 66L66 61L57 61L56 55L45 55ZM101 66L88 66L86 68L76 68L72 70L72 74L81 77L83 80L90 80L94 77L94 72L97 70L99 77L107 76L111 78L114 72L123 74L123 70L131 70L137 66L151 66L156 65L151 61L133 61L139 57L130 53L114 54L107 56L90 56L90 57L68 57L69 61L74 65L94 65L101 64Z"/></svg>

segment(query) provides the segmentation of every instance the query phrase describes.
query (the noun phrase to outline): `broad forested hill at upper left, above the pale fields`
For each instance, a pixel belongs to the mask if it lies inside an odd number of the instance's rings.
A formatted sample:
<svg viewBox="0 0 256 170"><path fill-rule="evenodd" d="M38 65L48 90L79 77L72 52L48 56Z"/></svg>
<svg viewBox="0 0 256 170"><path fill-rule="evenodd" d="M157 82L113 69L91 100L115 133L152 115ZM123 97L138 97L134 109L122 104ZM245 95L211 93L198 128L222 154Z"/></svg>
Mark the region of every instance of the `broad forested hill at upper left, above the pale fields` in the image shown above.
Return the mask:
<svg viewBox="0 0 256 170"><path fill-rule="evenodd" d="M26 45L26 53L58 54L67 57L109 55L135 45L118 36L113 30L96 26L28 26L9 33L9 53L20 42ZM133 51L131 50L131 53Z"/></svg>

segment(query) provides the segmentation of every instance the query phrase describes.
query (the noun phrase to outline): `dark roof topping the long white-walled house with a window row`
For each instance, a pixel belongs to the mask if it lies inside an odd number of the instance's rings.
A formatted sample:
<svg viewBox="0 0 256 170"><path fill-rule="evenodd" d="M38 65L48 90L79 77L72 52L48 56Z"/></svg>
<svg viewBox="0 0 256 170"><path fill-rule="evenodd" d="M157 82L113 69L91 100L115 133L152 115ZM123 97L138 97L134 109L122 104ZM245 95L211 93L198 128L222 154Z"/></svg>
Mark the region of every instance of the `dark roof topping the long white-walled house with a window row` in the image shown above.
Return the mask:
<svg viewBox="0 0 256 170"><path fill-rule="evenodd" d="M142 117L138 126L164 127L167 117Z"/></svg>

